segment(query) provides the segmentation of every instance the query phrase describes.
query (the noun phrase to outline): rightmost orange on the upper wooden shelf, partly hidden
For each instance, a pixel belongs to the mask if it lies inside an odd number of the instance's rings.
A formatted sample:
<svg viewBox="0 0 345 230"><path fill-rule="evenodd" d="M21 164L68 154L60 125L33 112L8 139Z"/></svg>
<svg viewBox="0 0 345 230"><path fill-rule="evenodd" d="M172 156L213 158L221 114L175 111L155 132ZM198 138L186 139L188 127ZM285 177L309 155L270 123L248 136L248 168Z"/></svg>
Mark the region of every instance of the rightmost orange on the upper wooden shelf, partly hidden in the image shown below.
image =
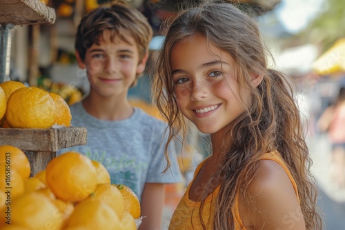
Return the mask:
<svg viewBox="0 0 345 230"><path fill-rule="evenodd" d="M56 123L63 127L70 127L72 115L70 114L70 107L66 101L59 95L52 92L49 93L55 103L55 114L57 116Z"/></svg>

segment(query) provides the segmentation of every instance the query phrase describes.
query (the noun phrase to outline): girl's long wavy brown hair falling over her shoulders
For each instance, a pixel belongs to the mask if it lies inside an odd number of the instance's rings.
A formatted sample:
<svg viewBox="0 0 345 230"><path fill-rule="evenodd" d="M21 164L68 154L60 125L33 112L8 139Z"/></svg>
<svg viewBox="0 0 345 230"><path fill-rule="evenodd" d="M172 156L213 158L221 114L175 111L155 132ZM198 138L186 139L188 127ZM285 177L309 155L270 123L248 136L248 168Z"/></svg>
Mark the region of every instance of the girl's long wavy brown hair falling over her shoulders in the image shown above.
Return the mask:
<svg viewBox="0 0 345 230"><path fill-rule="evenodd" d="M152 87L154 101L169 125L168 140L188 131L174 96L170 54L176 43L195 35L204 36L209 43L228 52L237 63L239 86L251 88L250 106L228 125L224 140L231 141L224 141L224 160L213 175L221 185L213 229L234 229L231 209L235 195L241 191L241 196L249 198L246 191L257 174L259 159L269 151L282 155L295 178L306 229L321 229L317 188L310 171L312 161L293 88L284 74L268 68L266 55L269 52L264 48L255 20L233 4L205 1L181 11L168 25ZM263 76L257 87L250 84L253 74ZM204 198L207 195L204 194ZM199 215L201 217L201 211ZM202 218L200 220L202 222ZM204 223L203 226L206 229Z"/></svg>

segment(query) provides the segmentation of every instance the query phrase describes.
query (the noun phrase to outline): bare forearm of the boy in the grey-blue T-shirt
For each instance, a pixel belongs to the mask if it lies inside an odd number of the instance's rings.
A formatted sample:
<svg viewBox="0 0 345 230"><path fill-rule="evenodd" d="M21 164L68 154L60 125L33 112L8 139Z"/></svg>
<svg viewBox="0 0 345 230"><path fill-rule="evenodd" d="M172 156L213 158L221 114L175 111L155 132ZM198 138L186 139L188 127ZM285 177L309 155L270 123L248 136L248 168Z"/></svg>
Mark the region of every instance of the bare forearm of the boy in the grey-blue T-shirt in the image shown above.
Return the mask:
<svg viewBox="0 0 345 230"><path fill-rule="evenodd" d="M146 216L139 230L160 230L164 207L165 184L146 183L141 195L141 216Z"/></svg>

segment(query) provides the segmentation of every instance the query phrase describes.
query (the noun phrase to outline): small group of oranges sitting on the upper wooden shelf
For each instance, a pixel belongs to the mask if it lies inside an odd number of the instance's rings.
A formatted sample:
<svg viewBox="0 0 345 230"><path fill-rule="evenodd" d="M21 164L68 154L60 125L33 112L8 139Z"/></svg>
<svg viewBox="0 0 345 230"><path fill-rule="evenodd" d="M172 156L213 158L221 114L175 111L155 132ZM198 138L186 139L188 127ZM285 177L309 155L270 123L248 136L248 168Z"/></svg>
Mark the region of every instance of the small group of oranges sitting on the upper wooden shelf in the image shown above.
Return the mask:
<svg viewBox="0 0 345 230"><path fill-rule="evenodd" d="M19 81L0 83L0 127L48 129L69 127L72 116L66 101Z"/></svg>

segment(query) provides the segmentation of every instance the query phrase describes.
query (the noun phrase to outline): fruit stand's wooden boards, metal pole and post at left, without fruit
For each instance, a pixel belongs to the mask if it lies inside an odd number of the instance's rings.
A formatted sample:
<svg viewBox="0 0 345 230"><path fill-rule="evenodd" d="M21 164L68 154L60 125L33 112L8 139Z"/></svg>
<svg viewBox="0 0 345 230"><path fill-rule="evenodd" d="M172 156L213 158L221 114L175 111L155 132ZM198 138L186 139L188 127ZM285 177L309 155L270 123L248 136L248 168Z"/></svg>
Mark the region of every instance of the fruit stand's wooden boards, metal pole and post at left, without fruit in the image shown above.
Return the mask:
<svg viewBox="0 0 345 230"><path fill-rule="evenodd" d="M0 8L0 83L9 80L10 29L15 25L55 23L55 10L39 0L3 0ZM43 170L65 147L86 145L85 127L50 129L0 128L0 145L22 149L30 161L31 175Z"/></svg>

